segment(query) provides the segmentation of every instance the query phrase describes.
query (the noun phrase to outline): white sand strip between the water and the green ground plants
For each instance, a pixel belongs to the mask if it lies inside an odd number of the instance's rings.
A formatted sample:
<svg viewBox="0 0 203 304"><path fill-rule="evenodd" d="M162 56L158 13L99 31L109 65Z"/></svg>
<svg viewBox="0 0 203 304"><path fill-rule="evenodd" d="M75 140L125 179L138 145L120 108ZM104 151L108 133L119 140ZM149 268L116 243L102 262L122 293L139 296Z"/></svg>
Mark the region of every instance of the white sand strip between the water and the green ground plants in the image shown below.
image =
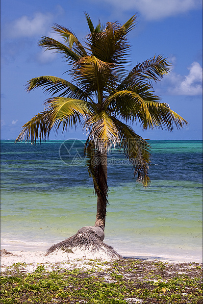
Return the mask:
<svg viewBox="0 0 203 304"><path fill-rule="evenodd" d="M139 258L139 259L148 259L148 260L158 260L158 261L165 261L168 263L188 263L188 262L199 262L201 263L201 258L199 260L194 259L192 257L180 257L177 256L177 259L173 256L162 256L162 257L154 257L150 255L136 255L136 256L126 256L125 257L132 257L132 258ZM1 250L0 256L0 267L1 271L4 271L7 267L12 266L15 263L22 263L23 268L26 272L33 272L39 265L45 265L47 270L54 269L57 265L59 267L65 267L68 269L73 268L87 268L87 263L90 259L97 259L102 261L112 261L109 255L105 253L90 253L89 251L80 251L75 250L73 253L66 253L62 250L57 250L54 253L50 253L46 255L46 252L43 251L6 251Z"/></svg>

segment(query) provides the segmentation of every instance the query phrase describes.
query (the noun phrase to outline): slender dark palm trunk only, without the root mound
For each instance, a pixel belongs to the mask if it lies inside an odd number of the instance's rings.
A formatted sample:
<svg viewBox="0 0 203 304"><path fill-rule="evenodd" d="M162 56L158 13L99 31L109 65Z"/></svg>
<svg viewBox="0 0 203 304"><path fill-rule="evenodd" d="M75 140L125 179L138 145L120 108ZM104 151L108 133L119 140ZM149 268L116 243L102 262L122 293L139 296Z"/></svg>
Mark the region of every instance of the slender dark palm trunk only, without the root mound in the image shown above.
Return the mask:
<svg viewBox="0 0 203 304"><path fill-rule="evenodd" d="M107 186L107 154L101 154L98 152L97 155L97 180L100 191L97 191L97 215L95 226L99 226L103 229L105 228L105 217L106 217L106 205L108 186Z"/></svg>

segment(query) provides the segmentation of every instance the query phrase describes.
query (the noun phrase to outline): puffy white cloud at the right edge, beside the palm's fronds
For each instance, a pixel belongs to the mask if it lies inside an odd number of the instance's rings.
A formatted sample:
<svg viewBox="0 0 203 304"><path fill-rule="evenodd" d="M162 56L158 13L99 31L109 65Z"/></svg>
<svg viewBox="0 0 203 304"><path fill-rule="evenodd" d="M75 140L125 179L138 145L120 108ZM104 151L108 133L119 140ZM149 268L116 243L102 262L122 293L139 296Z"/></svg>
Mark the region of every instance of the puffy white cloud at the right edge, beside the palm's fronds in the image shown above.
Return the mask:
<svg viewBox="0 0 203 304"><path fill-rule="evenodd" d="M203 68L194 61L188 67L189 74L181 76L172 72L166 77L166 82L169 84L168 93L170 95L201 95L203 93Z"/></svg>

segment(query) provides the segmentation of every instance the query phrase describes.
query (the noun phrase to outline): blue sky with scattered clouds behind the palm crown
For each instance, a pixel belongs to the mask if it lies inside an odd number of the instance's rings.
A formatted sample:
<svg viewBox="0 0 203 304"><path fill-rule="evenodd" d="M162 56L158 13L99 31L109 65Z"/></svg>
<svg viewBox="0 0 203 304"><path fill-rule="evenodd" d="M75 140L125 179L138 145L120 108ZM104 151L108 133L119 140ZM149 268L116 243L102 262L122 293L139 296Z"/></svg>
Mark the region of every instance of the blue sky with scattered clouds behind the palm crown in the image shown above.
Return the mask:
<svg viewBox="0 0 203 304"><path fill-rule="evenodd" d="M41 36L54 37L51 25L72 29L84 41L88 34L86 11L93 23L124 24L137 13L136 28L128 35L131 66L154 54L172 62L172 72L154 85L157 95L189 122L173 132L143 131L147 139L202 139L202 0L1 0L1 139L15 139L21 127L43 110L49 98L40 88L26 93L26 82L36 76L53 75L69 80L60 56L38 47ZM51 139L85 139L78 128Z"/></svg>

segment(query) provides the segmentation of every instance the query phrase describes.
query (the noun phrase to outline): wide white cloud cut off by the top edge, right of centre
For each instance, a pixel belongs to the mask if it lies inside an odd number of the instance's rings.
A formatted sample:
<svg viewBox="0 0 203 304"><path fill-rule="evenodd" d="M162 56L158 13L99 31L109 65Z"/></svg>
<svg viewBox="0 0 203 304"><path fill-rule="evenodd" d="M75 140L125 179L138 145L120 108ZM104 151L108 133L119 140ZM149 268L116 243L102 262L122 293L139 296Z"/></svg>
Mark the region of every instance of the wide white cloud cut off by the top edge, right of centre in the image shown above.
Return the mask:
<svg viewBox="0 0 203 304"><path fill-rule="evenodd" d="M202 7L202 0L104 0L115 8L139 11L147 20L157 20Z"/></svg>

